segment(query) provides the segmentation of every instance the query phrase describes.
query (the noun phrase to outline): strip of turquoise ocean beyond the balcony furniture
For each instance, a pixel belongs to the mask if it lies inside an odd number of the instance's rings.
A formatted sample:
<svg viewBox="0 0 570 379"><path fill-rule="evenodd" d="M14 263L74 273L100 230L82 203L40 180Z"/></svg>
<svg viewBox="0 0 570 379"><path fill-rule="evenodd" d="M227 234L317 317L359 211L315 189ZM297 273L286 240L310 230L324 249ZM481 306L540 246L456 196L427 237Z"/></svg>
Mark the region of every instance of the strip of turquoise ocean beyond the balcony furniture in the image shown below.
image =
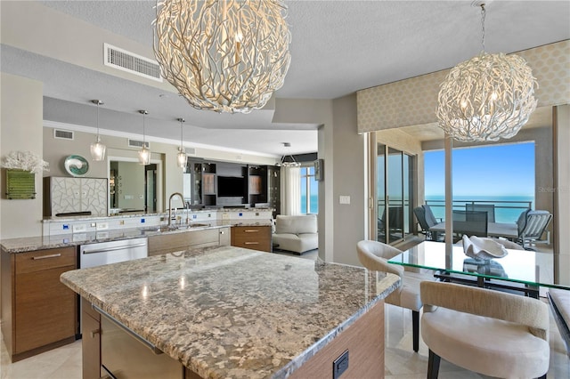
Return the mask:
<svg viewBox="0 0 570 379"><path fill-rule="evenodd" d="M471 201L476 204L493 204L495 206L495 222L517 222L521 212L527 207L534 208L533 196L462 196L453 198L453 209L464 210ZM445 218L445 196L426 196L426 204L431 206L436 218Z"/></svg>

